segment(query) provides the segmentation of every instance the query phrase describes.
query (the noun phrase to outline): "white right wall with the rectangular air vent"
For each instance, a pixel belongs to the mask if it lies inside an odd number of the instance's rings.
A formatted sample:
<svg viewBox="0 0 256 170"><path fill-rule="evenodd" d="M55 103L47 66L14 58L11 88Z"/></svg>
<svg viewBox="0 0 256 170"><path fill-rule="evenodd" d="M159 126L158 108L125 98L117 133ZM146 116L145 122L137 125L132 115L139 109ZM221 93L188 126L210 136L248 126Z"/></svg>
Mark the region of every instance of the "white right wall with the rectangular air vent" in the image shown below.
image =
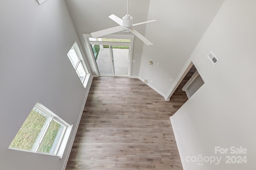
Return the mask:
<svg viewBox="0 0 256 170"><path fill-rule="evenodd" d="M171 117L184 169L256 169L255 6L255 0L226 0L180 72L179 76L192 61L205 82ZM215 66L207 58L210 51L220 60ZM248 152L214 153L214 147L232 146ZM186 162L186 156L198 154L222 156L222 160L203 166ZM226 156L246 156L248 162L226 164Z"/></svg>

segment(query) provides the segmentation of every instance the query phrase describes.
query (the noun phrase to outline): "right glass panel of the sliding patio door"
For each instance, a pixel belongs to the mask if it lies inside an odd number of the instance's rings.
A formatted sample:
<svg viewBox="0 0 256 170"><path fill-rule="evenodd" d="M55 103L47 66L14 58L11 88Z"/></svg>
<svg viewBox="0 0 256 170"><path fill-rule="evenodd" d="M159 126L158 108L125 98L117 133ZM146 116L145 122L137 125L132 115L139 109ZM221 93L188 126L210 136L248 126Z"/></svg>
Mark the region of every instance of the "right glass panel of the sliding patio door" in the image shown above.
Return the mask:
<svg viewBox="0 0 256 170"><path fill-rule="evenodd" d="M111 50L114 61L114 74L128 76L129 46L111 46Z"/></svg>

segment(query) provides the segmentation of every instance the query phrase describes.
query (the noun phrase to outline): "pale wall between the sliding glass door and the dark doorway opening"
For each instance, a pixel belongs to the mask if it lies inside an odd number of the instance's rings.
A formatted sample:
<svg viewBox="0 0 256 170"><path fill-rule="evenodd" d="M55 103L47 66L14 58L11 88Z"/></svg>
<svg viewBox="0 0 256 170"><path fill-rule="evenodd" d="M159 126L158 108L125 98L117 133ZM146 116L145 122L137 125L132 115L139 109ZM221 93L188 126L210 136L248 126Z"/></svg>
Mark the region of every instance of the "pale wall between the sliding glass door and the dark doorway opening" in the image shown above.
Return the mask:
<svg viewBox="0 0 256 170"><path fill-rule="evenodd" d="M148 20L158 21L147 24L145 35L154 46L144 44L139 76L167 95L170 79L176 79L223 1L150 0Z"/></svg>

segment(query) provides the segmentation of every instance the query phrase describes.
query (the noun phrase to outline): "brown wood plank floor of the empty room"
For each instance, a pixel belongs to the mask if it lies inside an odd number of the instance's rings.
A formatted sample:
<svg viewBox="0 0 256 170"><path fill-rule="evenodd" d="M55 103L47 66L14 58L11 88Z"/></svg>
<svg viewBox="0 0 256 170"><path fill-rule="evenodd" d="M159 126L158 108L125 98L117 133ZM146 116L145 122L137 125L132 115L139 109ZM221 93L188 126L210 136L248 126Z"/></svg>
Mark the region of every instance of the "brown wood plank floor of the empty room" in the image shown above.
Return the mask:
<svg viewBox="0 0 256 170"><path fill-rule="evenodd" d="M138 79L94 78L66 170L182 170L175 111Z"/></svg>

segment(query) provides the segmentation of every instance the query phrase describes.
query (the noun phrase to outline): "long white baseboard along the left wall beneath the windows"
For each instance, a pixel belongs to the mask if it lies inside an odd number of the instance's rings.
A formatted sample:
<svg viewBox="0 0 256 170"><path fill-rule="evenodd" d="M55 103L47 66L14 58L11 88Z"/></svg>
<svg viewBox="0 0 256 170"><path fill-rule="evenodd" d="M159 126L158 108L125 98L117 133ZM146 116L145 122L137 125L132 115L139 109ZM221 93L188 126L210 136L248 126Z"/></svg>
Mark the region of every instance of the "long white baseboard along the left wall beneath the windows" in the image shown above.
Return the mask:
<svg viewBox="0 0 256 170"><path fill-rule="evenodd" d="M77 132L77 129L78 129L78 126L79 126L79 123L80 123L80 120L81 120L81 117L82 117L82 114L83 114L83 111L84 111L84 106L85 106L85 103L86 103L86 100L87 100L87 97L88 97L88 94L89 94L89 91L90 91L90 87L91 87L91 85L92 85L92 79L93 79L93 76L90 76L90 77L89 77L89 80L88 80L88 87L89 87L89 89L86 91L86 95L85 95L85 98L84 98L84 102L83 102L83 105L82 105L82 109L81 109L81 111L80 111L78 120L77 120L77 122L76 122L76 127L75 127L75 129L74 129L74 133L73 133L73 136L72 136L70 145L69 145L69 147L68 147L68 152L67 152L66 158L65 158L65 160L64 160L64 164L63 164L63 166L62 166L62 170L65 170L65 169L66 169L66 165L67 165L67 163L68 163L68 158L69 158L69 155L70 155L70 152L71 152L71 149L72 149L72 146L73 146L75 137L76 137L76 132Z"/></svg>

